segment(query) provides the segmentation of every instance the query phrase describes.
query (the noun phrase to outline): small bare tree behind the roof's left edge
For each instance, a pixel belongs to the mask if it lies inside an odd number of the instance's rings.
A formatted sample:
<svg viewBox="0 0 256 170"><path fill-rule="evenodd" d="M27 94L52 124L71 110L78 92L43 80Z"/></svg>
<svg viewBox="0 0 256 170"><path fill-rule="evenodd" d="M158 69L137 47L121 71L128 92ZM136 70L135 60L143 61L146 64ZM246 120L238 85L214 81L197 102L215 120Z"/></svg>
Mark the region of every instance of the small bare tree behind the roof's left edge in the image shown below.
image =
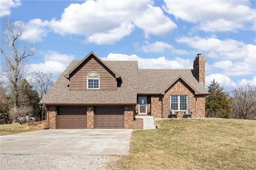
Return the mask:
<svg viewBox="0 0 256 170"><path fill-rule="evenodd" d="M44 97L44 95L48 92L50 87L52 87L52 73L47 71L46 73L40 71L34 71L31 73L33 86L39 94L40 99ZM46 107L40 106L41 116L40 120L44 120L46 118Z"/></svg>

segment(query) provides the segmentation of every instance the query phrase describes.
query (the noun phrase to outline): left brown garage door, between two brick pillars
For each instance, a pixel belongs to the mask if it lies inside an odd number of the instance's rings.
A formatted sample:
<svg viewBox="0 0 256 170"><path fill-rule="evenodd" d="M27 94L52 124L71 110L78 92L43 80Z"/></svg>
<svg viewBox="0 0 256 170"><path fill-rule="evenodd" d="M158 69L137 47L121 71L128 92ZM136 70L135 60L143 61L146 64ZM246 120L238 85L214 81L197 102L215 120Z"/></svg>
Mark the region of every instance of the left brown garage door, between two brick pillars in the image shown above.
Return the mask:
<svg viewBox="0 0 256 170"><path fill-rule="evenodd" d="M86 128L86 107L59 107L58 128Z"/></svg>

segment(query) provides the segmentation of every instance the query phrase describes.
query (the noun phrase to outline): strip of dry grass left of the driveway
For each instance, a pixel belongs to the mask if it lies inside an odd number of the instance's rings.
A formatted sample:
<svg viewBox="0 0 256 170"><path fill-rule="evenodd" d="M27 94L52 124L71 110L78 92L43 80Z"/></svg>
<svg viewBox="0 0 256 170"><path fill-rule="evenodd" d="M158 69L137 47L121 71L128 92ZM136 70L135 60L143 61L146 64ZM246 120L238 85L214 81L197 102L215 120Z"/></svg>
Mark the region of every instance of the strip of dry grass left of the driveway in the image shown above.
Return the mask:
<svg viewBox="0 0 256 170"><path fill-rule="evenodd" d="M42 130L46 127L46 123L37 126L28 126L28 124L20 125L19 123L0 125L0 135L15 134L22 132L30 132L34 130Z"/></svg>

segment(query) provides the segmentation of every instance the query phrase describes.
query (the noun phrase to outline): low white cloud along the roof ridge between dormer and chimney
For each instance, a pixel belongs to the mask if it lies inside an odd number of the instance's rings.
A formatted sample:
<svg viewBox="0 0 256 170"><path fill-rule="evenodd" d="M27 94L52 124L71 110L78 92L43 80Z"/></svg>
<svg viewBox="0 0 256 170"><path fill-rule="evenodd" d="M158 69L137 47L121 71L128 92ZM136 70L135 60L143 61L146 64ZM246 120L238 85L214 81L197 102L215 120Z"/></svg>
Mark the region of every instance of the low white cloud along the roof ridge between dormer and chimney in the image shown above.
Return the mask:
<svg viewBox="0 0 256 170"><path fill-rule="evenodd" d="M106 61L138 61L139 69L192 69L193 61L176 57L175 60L168 60L166 57L141 58L138 55L126 55L110 53L107 57L102 57ZM190 68L188 68L188 65Z"/></svg>

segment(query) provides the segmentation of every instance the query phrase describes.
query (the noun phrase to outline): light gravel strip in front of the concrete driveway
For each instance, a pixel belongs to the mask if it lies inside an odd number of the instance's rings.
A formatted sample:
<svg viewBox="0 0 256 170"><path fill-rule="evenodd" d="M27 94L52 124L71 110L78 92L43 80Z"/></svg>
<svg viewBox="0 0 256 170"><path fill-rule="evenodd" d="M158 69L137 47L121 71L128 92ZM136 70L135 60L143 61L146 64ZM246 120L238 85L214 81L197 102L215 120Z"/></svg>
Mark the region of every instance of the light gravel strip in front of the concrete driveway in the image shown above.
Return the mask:
<svg viewBox="0 0 256 170"><path fill-rule="evenodd" d="M1 170L114 170L122 156L0 154Z"/></svg>

